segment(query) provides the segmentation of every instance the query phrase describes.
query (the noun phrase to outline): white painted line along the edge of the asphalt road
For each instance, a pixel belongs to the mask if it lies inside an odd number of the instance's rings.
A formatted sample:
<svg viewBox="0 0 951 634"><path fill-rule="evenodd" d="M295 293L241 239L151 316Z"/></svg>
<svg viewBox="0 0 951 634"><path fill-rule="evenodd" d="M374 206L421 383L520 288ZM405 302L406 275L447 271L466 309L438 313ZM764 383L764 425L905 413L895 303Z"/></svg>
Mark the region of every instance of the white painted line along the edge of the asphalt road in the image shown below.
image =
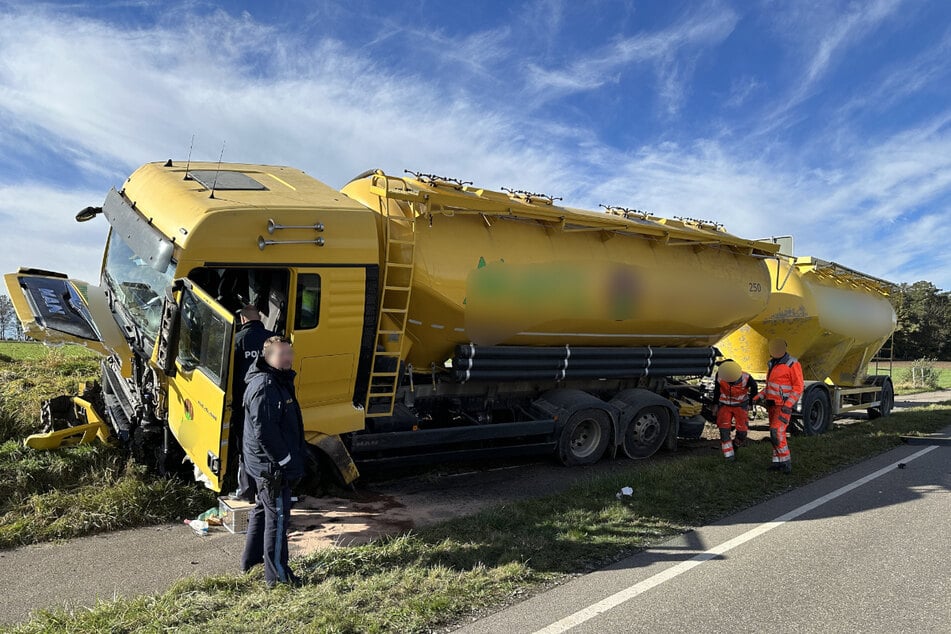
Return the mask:
<svg viewBox="0 0 951 634"><path fill-rule="evenodd" d="M604 614L605 612L616 608L617 606L621 605L622 603L626 601L630 601L634 597L638 596L639 594L643 594L644 592L647 592L651 588L656 588L657 586L664 583L665 581L670 581L674 577L682 575L683 573L687 572L688 570L691 570L692 568L696 568L697 566L699 566L705 561L710 561L711 559L714 559L725 552L733 550L737 546L740 546L741 544L745 544L746 542L752 539L755 539L759 537L760 535L767 533L778 526L782 526L783 524L785 524L786 522L790 520L796 519L800 515L805 515L809 511L822 506L826 502L830 502L837 497L843 496L846 493L859 488L863 484L867 484L871 482L872 480L875 480L876 478L879 478L885 475L889 471L896 469L899 464L902 464L902 463L907 464L911 462L912 460L916 460L934 449L937 449L937 446L927 447L926 449L922 449L921 451L917 453L913 453L907 458L902 458L901 460L897 462L893 462L887 467L882 467L878 471L875 471L874 473L870 473L865 477L859 478L858 480L856 480L855 482L852 482L851 484L847 484L843 487L840 487L836 489L835 491L832 491L831 493L827 493L823 495L822 497L816 498L812 502L803 504L802 506L795 508L792 511L789 511L788 513L780 515L779 517L777 517L776 519L770 522L766 522L765 524L760 524L756 528L751 528L745 533L741 535L737 535L733 539L727 540L723 542L722 544L720 544L719 546L714 546L713 548L700 553L699 555L693 557L692 559L688 559L687 561L679 563L676 566L672 566L668 568L667 570L659 572L652 577L648 577L647 579L644 579L643 581L639 583L635 583L633 586L630 586L629 588L625 588L624 590L621 590L620 592L612 594L611 596L605 599L602 599L598 601L597 603L589 605L588 607L582 610L578 610L574 614L570 614L566 616L565 618L561 619L560 621L556 623L552 623L548 627L538 630L537 632L535 632L535 634L562 634L563 632L567 632L573 627L576 627L578 625L581 625L582 623L590 621L596 616Z"/></svg>

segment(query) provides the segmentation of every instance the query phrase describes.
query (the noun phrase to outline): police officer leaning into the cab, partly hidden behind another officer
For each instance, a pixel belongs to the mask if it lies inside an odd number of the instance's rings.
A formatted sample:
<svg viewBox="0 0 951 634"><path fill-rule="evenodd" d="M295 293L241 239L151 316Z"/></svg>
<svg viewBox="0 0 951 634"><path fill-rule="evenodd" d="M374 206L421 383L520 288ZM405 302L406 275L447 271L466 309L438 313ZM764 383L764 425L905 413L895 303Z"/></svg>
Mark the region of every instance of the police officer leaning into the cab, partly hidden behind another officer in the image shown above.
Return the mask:
<svg viewBox="0 0 951 634"><path fill-rule="evenodd" d="M264 342L274 333L261 323L261 313L252 305L247 305L238 313L241 327L234 336L234 375L231 380L231 446L238 458L238 490L236 497L254 501L254 480L248 477L241 458L244 440L244 378L251 364L261 354Z"/></svg>

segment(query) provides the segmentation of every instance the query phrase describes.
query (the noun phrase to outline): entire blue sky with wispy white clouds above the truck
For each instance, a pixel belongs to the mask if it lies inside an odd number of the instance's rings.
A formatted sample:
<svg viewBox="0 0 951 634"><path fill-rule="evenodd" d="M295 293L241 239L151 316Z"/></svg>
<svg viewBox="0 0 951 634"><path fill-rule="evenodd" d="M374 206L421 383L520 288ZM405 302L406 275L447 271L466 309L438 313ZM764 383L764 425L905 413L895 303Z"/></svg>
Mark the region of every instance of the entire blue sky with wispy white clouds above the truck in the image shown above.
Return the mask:
<svg viewBox="0 0 951 634"><path fill-rule="evenodd" d="M436 172L951 288L951 3L0 0L0 270L139 164Z"/></svg>

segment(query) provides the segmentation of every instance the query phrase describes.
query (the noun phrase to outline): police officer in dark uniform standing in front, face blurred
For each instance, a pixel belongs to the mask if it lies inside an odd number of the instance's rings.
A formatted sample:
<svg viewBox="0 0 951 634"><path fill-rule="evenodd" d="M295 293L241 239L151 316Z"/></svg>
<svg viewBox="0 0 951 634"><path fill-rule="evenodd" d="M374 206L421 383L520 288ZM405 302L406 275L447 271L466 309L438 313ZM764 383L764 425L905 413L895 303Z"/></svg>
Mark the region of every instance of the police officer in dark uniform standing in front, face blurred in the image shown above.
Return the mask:
<svg viewBox="0 0 951 634"><path fill-rule="evenodd" d="M304 476L304 424L294 391L294 351L284 337L270 337L247 374L244 394L244 464L257 485L241 569L264 563L264 580L300 583L287 565L291 487Z"/></svg>

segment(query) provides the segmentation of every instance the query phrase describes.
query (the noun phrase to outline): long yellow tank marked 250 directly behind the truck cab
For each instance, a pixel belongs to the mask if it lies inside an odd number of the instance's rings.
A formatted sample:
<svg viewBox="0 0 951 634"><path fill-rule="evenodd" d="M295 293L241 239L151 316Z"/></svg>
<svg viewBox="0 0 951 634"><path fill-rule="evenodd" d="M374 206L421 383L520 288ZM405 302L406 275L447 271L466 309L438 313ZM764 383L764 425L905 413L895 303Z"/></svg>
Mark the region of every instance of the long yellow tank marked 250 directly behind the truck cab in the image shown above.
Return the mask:
<svg viewBox="0 0 951 634"><path fill-rule="evenodd" d="M769 300L777 247L713 223L424 175L369 172L342 191L380 215L381 287L411 288L403 356L416 368L468 343L710 346Z"/></svg>

